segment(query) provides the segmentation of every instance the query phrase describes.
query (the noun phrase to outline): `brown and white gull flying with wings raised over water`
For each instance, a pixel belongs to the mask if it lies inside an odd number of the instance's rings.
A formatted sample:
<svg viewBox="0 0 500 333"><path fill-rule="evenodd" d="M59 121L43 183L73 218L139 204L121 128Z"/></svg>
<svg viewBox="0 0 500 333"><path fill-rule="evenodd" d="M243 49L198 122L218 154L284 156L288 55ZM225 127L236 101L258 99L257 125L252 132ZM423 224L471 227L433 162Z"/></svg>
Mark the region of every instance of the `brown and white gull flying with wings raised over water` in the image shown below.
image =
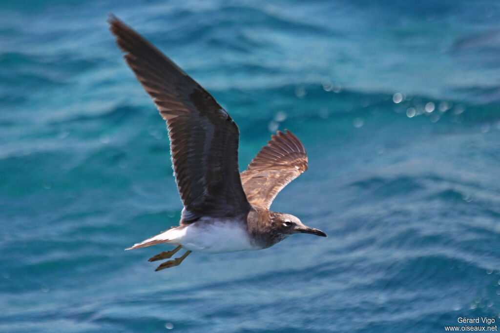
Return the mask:
<svg viewBox="0 0 500 333"><path fill-rule="evenodd" d="M110 15L124 58L166 121L173 174L183 209L178 227L126 249L177 246L149 258L179 265L191 251L225 253L268 248L305 233L326 237L290 214L269 210L276 195L307 170L307 154L291 132L278 131L239 173L239 131L229 114L196 81L137 32Z"/></svg>

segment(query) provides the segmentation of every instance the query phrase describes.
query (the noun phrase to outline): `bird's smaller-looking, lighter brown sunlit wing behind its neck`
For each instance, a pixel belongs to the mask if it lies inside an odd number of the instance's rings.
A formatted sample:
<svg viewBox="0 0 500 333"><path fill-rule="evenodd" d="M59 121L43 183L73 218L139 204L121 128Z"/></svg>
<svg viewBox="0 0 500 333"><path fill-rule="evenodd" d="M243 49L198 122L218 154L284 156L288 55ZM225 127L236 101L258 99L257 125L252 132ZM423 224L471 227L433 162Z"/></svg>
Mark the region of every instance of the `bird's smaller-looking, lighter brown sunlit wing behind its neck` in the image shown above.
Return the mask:
<svg viewBox="0 0 500 333"><path fill-rule="evenodd" d="M269 209L279 191L305 170L302 142L288 130L278 131L241 173L246 198L253 206Z"/></svg>

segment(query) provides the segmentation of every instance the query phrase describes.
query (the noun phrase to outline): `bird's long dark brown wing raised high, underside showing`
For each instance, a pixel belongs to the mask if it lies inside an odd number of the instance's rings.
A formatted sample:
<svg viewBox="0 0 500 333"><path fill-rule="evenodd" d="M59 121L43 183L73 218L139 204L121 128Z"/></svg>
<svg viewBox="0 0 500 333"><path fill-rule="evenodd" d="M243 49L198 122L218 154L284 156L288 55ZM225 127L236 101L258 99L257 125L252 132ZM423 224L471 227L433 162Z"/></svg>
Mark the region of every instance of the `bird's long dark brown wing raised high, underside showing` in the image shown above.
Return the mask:
<svg viewBox="0 0 500 333"><path fill-rule="evenodd" d="M238 127L198 83L138 33L109 18L124 58L166 120L182 222L247 213L238 172Z"/></svg>

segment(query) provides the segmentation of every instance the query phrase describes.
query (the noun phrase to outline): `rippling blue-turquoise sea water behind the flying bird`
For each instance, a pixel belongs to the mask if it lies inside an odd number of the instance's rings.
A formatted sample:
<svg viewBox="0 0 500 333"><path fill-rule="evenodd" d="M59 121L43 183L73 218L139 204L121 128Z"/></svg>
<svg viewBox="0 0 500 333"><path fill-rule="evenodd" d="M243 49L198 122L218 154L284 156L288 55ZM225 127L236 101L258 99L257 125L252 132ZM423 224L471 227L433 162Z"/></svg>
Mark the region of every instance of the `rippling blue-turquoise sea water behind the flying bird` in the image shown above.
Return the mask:
<svg viewBox="0 0 500 333"><path fill-rule="evenodd" d="M177 224L165 124L114 13L309 170L272 209L328 238L123 249ZM500 322L497 1L0 1L0 332L444 332ZM488 326L487 324L466 324Z"/></svg>

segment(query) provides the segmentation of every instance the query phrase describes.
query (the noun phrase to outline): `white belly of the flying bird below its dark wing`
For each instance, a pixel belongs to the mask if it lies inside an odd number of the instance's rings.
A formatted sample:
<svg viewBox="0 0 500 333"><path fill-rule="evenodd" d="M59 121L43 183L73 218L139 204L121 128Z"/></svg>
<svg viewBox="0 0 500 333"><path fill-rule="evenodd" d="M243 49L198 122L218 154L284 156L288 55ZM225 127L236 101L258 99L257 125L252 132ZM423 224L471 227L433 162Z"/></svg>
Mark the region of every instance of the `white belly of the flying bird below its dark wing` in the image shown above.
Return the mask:
<svg viewBox="0 0 500 333"><path fill-rule="evenodd" d="M168 243L182 245L184 249L189 251L225 253L258 250L252 244L246 226L231 220L215 221L202 218L180 230L176 230L175 236L175 239Z"/></svg>

